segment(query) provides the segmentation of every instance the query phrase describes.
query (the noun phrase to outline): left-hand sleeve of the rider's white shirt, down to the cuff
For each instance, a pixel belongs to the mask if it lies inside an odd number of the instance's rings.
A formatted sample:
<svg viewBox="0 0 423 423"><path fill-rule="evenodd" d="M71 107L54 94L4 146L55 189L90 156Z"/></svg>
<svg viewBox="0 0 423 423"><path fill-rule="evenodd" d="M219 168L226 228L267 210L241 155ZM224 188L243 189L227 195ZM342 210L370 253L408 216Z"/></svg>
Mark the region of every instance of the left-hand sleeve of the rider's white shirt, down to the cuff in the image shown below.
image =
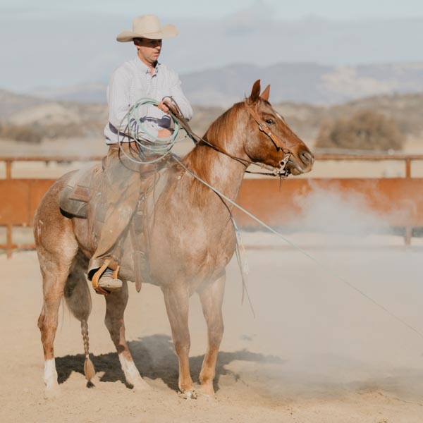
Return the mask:
<svg viewBox="0 0 423 423"><path fill-rule="evenodd" d="M142 131L135 120L128 122L130 109L130 74L124 68L118 68L111 76L107 90L107 102L109 104L109 122L119 132L128 133L128 123L137 137L153 141L159 131L149 122L143 123L148 135ZM151 135L151 136L150 136Z"/></svg>

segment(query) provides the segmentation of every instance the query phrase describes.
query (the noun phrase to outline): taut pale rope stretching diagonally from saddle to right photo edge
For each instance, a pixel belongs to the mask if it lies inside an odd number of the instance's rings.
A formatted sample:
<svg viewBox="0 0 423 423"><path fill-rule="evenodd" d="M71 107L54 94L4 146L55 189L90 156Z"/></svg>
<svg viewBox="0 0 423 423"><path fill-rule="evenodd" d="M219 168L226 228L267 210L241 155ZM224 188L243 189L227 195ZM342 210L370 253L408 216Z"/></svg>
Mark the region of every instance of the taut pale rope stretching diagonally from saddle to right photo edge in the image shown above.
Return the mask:
<svg viewBox="0 0 423 423"><path fill-rule="evenodd" d="M386 307L384 307L379 302L377 302L376 300L374 300L373 298L371 298L369 295L367 295L366 293L364 293L362 290L360 290L360 288L357 288L356 286L354 286L353 283L350 283L345 278L342 278L341 276L338 276L337 274L333 273L333 271L328 266L326 266L324 263L319 262L318 259L316 259L312 255L310 255L307 251L303 250L298 245L295 245L295 243L293 243L292 241L288 240L288 238L285 238L281 233L278 233L277 231L275 231L274 228L271 228L271 226L269 226L266 223L264 223L264 221L261 221L256 216L254 216L253 214L251 214L250 212L248 212L246 209L244 209L243 207L241 207L240 205L238 205L237 203L235 203L233 200L231 200L231 198L226 197L226 195L224 195L221 192L219 192L218 190L216 190L216 188L212 187L212 185L209 185L209 183L207 183L205 180L202 180L200 177L198 177L197 175L195 175L195 173L193 173L192 171L190 171L190 169L187 168L185 166L185 164L183 164L183 162L180 161L178 159L178 157L176 157L174 154L172 154L172 158L180 166L182 166L185 169L185 171L187 171L188 173L190 173L190 175L193 176L198 181L200 181L200 183L206 185L207 188L209 188L210 190L212 190L213 192L215 192L219 197L221 197L221 199L226 200L227 202L229 202L230 204L232 204L234 207L236 207L238 210L240 210L241 212L247 214L247 216L250 216L251 219L255 220L257 223L259 223L261 226L263 226L264 228L266 228L271 233L274 233L276 236L278 236L278 238L281 238L282 240L284 240L286 243L288 243L289 245L291 245L292 247L294 247L296 250L300 251L303 255L305 255L309 259L312 259L313 262L315 262L317 264L317 266L320 266L321 269L324 269L324 271L326 271L327 274L329 274L330 276L335 277L336 279L338 279L338 281L341 281L341 282L345 283L345 285L347 285L351 289L355 290L357 293L359 293L360 295L362 295L364 298L367 298L367 300L369 300L374 305L376 305L377 307L379 307L380 309L382 309L384 312L386 312L387 314L389 314L391 317L393 317L393 319L396 319L396 321L399 321L400 324L403 324L404 326L406 326L411 331L417 333L417 335L420 338L423 338L423 333L421 333L420 331L418 331L417 329L415 329L413 326L411 326L410 324L408 324L405 320L401 319L396 314L393 314L393 312L390 312L388 309L386 309ZM236 228L236 226L235 226L235 228ZM237 254L237 258L238 258L238 254Z"/></svg>

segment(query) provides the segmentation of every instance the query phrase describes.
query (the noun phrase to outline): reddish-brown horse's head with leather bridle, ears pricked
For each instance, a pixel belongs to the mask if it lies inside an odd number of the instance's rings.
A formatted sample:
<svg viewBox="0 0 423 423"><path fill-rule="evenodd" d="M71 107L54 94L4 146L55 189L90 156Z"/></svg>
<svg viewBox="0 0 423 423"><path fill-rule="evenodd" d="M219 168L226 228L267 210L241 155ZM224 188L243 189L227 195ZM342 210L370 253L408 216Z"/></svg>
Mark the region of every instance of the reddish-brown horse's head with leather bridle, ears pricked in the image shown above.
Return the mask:
<svg viewBox="0 0 423 423"><path fill-rule="evenodd" d="M260 80L245 99L248 113L244 151L251 161L300 175L312 170L314 155L269 103L270 85L260 94Z"/></svg>

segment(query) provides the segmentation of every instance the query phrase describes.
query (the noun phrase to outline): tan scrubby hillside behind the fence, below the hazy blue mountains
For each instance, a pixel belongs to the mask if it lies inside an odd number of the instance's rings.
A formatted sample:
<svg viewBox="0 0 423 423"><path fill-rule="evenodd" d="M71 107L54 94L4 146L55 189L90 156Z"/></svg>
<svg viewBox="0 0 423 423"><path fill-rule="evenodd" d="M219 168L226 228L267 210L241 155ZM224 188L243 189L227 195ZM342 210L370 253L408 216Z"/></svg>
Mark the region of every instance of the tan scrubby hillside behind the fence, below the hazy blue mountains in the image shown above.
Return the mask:
<svg viewBox="0 0 423 423"><path fill-rule="evenodd" d="M0 123L2 128L25 127L38 130L49 137L98 135L107 121L106 104L52 102L0 91ZM351 116L355 111L371 109L395 119L400 131L407 137L423 133L423 94L393 94L367 97L334 106L315 106L306 103L273 102L276 109L300 137L313 141L322 123L340 116ZM202 135L210 123L226 108L194 106L192 130ZM4 136L4 135L3 135Z"/></svg>

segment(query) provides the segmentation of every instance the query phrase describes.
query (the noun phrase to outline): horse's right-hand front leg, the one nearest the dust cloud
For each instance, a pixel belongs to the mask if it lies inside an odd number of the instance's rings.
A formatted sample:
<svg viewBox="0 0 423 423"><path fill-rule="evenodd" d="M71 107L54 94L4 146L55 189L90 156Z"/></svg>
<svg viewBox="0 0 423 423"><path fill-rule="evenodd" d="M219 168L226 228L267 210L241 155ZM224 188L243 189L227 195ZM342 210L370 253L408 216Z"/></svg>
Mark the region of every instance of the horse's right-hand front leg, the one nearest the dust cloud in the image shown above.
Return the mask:
<svg viewBox="0 0 423 423"><path fill-rule="evenodd" d="M222 303L223 293L225 292L225 279L226 276L223 274L213 283L208 283L199 292L204 318L207 322L208 335L207 353L204 355L201 367L200 382L202 393L209 396L214 395L213 379L223 336Z"/></svg>

